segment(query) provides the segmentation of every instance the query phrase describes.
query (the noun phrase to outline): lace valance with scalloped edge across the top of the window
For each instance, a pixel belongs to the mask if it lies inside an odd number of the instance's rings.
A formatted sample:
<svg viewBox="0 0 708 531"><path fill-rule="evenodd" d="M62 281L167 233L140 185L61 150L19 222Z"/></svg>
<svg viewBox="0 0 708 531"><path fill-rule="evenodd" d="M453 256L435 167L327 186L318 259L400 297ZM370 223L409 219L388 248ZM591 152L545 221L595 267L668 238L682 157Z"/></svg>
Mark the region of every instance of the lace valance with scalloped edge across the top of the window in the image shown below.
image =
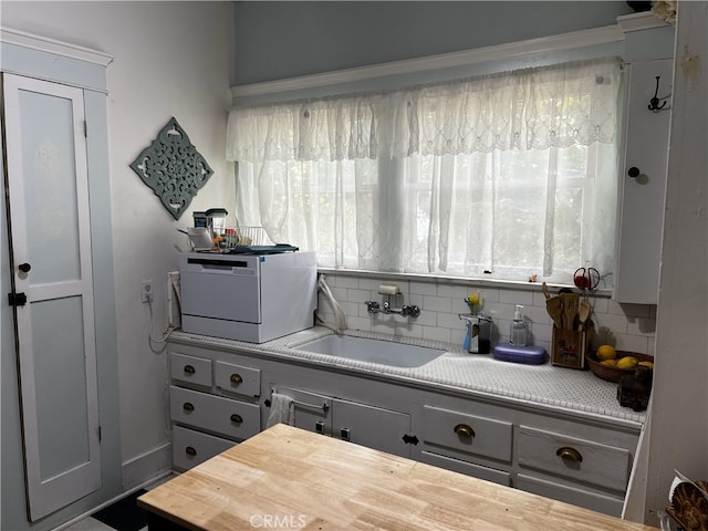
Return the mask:
<svg viewBox="0 0 708 531"><path fill-rule="evenodd" d="M229 115L227 158L250 163L462 155L615 139L616 59Z"/></svg>

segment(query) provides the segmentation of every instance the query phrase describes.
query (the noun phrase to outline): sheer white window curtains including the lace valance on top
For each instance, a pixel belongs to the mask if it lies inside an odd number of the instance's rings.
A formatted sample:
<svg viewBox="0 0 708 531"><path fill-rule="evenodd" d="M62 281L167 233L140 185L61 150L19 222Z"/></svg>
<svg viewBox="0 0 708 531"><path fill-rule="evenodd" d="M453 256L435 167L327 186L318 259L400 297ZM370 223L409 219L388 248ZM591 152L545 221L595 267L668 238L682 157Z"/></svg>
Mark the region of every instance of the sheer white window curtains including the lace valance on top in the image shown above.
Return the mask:
<svg viewBox="0 0 708 531"><path fill-rule="evenodd" d="M611 271L620 85L605 59L233 108L237 217L323 267Z"/></svg>

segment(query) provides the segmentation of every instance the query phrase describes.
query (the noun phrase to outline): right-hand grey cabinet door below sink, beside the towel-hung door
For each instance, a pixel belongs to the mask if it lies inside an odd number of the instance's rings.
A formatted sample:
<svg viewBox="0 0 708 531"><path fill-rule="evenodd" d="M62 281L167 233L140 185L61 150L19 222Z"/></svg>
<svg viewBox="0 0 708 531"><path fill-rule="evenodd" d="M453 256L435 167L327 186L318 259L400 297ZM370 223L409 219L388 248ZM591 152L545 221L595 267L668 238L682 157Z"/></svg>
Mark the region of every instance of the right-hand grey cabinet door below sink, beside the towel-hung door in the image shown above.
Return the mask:
<svg viewBox="0 0 708 531"><path fill-rule="evenodd" d="M334 399L334 437L375 450L409 457L410 445L403 439L409 429L410 416L405 413Z"/></svg>

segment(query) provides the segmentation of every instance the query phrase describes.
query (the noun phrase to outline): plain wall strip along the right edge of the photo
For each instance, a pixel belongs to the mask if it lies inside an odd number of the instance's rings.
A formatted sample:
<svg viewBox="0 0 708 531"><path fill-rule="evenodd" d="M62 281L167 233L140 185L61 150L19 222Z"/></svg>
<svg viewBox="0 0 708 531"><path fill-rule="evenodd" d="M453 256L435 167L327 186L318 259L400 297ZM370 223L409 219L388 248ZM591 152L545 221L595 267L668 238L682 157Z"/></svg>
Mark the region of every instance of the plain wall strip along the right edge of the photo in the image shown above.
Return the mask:
<svg viewBox="0 0 708 531"><path fill-rule="evenodd" d="M708 480L708 3L679 2L646 517L674 470Z"/></svg>

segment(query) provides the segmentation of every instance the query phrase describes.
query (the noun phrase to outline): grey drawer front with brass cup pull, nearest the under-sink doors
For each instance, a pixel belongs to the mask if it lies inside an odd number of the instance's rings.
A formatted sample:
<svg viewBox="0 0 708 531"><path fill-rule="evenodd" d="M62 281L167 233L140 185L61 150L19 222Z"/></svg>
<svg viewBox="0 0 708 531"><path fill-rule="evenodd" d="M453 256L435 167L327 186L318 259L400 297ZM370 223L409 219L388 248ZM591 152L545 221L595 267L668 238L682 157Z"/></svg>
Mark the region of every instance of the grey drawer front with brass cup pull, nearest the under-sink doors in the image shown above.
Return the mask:
<svg viewBox="0 0 708 531"><path fill-rule="evenodd" d="M457 451L511 462L512 424L459 412L423 407L423 440Z"/></svg>

